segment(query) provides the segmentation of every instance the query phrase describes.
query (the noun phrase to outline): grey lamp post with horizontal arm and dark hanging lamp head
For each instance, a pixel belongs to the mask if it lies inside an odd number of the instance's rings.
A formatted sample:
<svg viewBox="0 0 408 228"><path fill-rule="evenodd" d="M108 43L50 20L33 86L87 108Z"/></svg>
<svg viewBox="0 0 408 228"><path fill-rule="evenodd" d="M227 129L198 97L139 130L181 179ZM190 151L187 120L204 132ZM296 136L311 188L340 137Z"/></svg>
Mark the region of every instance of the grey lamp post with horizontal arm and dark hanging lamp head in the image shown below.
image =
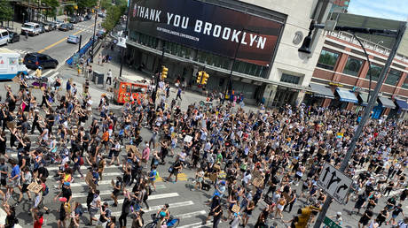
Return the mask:
<svg viewBox="0 0 408 228"><path fill-rule="evenodd" d="M298 49L299 52L310 54L310 43L311 43L311 32L314 28L324 28L325 25L315 25L314 21L310 23L310 31L307 37L305 37L302 47ZM335 27L334 30L339 30L339 31L345 31L345 32L351 32L351 33L362 33L362 34L376 34L376 35L382 35L382 36L388 36L388 37L394 37L396 38L396 41L394 42L393 48L391 52L389 53L388 59L384 67L382 68L379 80L377 85L374 88L373 95L370 97L369 102L367 104L367 108L365 109L365 112L363 114L363 117L360 120L360 123L357 126L357 130L353 135L353 138L351 139L351 143L349 145L349 149L347 150L346 155L343 157L342 162L341 162L341 167L340 171L345 171L346 168L349 166L349 159L352 156L354 149L356 148L356 144L358 139L360 138L361 133L363 132L363 128L365 126L365 122L370 118L370 113L373 110L375 100L377 100L377 96L380 92L382 83L385 80L386 74L388 72L389 66L392 63L392 60L396 56L396 49L398 49L399 44L403 38L404 31L406 27L406 22L401 22L400 27L398 30L388 30L388 29L372 29L372 28L365 28L365 27ZM323 208L321 209L319 215L318 215L318 220L316 221L314 228L320 228L321 224L323 223L325 217L326 217L326 212L327 209L330 207L330 204L333 201L333 197L331 195L327 195L327 199L325 201L325 204L323 205Z"/></svg>

